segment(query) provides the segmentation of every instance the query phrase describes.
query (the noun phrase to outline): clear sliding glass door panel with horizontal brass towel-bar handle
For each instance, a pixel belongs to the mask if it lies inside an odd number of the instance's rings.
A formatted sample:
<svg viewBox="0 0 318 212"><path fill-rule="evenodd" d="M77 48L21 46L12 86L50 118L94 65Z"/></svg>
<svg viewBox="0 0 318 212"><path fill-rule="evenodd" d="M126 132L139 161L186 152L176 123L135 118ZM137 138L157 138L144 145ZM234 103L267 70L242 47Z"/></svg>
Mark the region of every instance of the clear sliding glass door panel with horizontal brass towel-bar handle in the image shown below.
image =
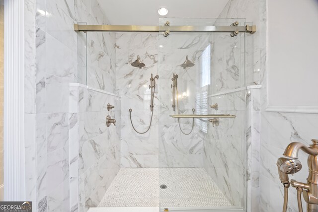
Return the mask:
<svg viewBox="0 0 318 212"><path fill-rule="evenodd" d="M229 26L244 19L160 19ZM246 209L244 33L159 33L160 210ZM211 105L214 105L212 108ZM235 118L172 118L230 114Z"/></svg>

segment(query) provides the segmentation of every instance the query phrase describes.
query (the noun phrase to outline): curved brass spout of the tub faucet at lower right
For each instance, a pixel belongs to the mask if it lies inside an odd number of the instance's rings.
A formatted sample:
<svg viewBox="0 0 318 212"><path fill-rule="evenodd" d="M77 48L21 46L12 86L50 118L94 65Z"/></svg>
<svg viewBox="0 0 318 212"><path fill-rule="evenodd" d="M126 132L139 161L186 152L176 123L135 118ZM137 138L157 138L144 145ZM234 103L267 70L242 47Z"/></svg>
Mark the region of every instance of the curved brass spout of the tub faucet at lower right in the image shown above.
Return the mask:
<svg viewBox="0 0 318 212"><path fill-rule="evenodd" d="M316 144L311 145L311 147L307 147L305 144L301 142L291 142L286 147L283 155L297 159L299 149L302 149L307 154L318 155L318 148L312 148L314 146L317 147Z"/></svg>

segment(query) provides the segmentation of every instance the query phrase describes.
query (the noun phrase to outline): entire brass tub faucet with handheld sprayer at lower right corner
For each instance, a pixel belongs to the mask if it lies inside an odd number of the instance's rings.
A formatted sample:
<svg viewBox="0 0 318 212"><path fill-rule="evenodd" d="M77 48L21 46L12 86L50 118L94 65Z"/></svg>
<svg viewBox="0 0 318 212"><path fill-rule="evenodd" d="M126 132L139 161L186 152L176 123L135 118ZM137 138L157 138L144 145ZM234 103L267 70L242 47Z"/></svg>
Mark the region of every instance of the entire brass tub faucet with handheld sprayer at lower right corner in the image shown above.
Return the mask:
<svg viewBox="0 0 318 212"><path fill-rule="evenodd" d="M303 211L301 200L302 193L304 200L307 203L307 212L318 211L318 140L313 139L312 142L313 144L309 147L301 142L291 142L286 147L283 155L292 159L281 157L277 160L279 178L284 185L283 212L287 211L288 188L290 185L297 190L299 212ZM302 168L300 161L297 159L300 149L309 154L307 160L309 168L307 183L297 182L296 180L289 181L287 176L287 174L297 173Z"/></svg>

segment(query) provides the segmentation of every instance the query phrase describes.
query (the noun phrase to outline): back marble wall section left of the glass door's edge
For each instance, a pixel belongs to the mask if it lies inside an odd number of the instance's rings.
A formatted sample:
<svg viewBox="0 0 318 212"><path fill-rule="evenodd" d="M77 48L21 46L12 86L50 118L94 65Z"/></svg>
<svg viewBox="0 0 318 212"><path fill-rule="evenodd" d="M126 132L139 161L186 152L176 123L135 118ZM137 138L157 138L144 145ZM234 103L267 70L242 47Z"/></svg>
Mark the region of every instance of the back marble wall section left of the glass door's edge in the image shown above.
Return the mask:
<svg viewBox="0 0 318 212"><path fill-rule="evenodd" d="M154 115L149 132L137 134L130 123L129 109L135 128L144 132L151 120L151 73L158 74L157 33L116 33L116 92L121 104L121 167L158 167L158 87ZM146 67L130 64L137 55ZM160 76L157 84L160 83Z"/></svg>

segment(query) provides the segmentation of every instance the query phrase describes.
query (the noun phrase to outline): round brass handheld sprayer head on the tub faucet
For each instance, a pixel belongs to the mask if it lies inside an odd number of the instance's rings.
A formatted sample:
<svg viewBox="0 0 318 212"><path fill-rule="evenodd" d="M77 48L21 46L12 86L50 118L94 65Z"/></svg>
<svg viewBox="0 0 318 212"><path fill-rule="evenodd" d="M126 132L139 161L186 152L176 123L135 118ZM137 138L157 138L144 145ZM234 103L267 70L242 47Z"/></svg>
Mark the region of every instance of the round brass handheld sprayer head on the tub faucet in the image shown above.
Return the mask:
<svg viewBox="0 0 318 212"><path fill-rule="evenodd" d="M277 160L277 168L279 179L283 184L288 184L289 178L288 174L295 174L302 169L302 163L297 159L289 159L286 157L280 157Z"/></svg>

